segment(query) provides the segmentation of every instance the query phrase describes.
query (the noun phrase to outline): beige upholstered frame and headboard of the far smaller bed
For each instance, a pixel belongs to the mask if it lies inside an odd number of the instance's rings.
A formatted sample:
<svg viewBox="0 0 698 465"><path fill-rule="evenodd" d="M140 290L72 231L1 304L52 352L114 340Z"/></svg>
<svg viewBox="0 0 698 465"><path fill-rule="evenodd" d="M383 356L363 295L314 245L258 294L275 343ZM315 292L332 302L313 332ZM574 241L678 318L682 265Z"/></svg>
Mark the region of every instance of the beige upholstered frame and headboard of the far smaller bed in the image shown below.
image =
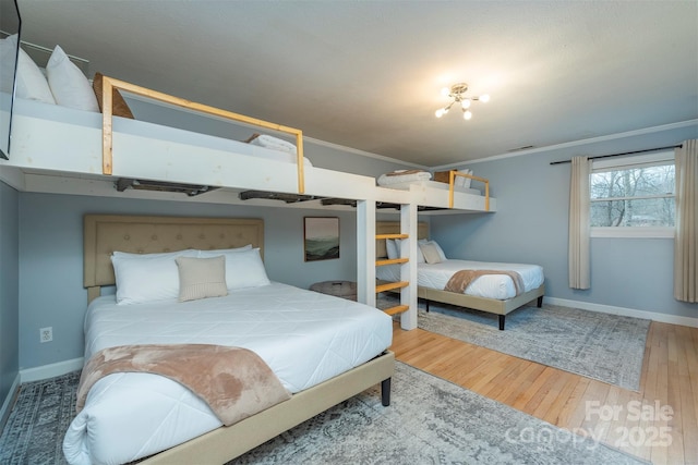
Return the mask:
<svg viewBox="0 0 698 465"><path fill-rule="evenodd" d="M376 223L376 230L386 234L399 232L400 223L397 221L378 221ZM419 238L429 238L429 225L420 222L418 224L417 234ZM385 254L385 243L381 247L376 246L376 257L384 257L385 255L383 254ZM504 331L504 323L507 314L535 299L538 299L537 306L540 308L543 305L543 295L545 295L545 284L541 284L538 289L533 289L529 292L517 295L516 297L507 298L506 301L477 297L473 295L458 294L432 287L417 287L417 296L426 301L426 311L429 311L430 302L438 302L486 311L498 316L500 330L502 331Z"/></svg>

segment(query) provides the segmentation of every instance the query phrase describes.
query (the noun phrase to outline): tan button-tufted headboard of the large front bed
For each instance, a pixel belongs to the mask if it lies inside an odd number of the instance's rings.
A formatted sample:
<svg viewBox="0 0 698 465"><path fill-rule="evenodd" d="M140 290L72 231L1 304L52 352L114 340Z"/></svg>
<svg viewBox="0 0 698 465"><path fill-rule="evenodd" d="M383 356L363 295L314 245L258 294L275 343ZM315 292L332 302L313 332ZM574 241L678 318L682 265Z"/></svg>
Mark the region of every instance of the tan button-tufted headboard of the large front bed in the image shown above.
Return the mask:
<svg viewBox="0 0 698 465"><path fill-rule="evenodd" d="M113 285L111 253L232 248L252 244L264 258L264 220L248 218L85 215L83 284L91 302Z"/></svg>

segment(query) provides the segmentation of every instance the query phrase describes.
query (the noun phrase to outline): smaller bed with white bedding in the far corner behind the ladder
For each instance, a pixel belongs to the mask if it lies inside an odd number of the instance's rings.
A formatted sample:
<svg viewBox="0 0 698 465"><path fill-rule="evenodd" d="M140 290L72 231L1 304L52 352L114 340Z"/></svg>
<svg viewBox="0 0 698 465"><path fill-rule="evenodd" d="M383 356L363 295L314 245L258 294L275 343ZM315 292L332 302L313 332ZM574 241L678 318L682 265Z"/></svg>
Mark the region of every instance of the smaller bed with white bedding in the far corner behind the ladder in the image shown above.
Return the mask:
<svg viewBox="0 0 698 465"><path fill-rule="evenodd" d="M386 233L395 232L399 231L399 223L382 221L377 228ZM419 223L418 236L422 243L428 241L429 228L425 223ZM390 248L386 245L376 246L377 258L389 258L395 253L399 256L399 248L393 252ZM447 259L437 244L433 250L438 257L425 260L422 255L417 260L418 296L426 302L428 311L430 302L486 311L497 315L498 328L504 330L507 314L532 301L537 301L538 307L543 304L544 274L543 268L538 265ZM478 276L461 292L445 290L450 278L459 270L492 270L495 274ZM399 281L399 266L377 267L376 279L378 282Z"/></svg>

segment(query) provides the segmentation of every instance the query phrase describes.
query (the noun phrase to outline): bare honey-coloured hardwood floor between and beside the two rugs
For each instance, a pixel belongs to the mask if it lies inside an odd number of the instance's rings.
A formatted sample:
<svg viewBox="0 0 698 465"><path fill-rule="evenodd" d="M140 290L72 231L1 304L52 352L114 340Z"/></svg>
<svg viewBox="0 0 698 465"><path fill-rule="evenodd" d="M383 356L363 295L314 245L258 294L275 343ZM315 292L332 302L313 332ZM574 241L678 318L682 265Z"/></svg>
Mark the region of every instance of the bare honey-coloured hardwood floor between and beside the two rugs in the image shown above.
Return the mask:
<svg viewBox="0 0 698 465"><path fill-rule="evenodd" d="M640 392L421 329L394 327L398 360L653 464L698 464L698 329L652 322Z"/></svg>

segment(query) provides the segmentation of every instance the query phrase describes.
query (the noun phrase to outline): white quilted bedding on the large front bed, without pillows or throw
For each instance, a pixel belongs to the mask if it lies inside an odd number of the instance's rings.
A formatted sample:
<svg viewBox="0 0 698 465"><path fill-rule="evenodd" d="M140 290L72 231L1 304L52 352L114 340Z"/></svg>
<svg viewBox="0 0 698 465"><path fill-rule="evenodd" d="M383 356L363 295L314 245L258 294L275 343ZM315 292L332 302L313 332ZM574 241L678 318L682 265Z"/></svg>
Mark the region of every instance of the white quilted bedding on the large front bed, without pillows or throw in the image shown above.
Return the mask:
<svg viewBox="0 0 698 465"><path fill-rule="evenodd" d="M296 393L370 360L392 338L392 319L383 311L280 283L185 303L117 305L111 295L87 309L85 363L103 348L128 344L239 346L260 355ZM71 464L127 463L220 426L209 407L176 381L142 372L109 375L89 391L63 452Z"/></svg>

